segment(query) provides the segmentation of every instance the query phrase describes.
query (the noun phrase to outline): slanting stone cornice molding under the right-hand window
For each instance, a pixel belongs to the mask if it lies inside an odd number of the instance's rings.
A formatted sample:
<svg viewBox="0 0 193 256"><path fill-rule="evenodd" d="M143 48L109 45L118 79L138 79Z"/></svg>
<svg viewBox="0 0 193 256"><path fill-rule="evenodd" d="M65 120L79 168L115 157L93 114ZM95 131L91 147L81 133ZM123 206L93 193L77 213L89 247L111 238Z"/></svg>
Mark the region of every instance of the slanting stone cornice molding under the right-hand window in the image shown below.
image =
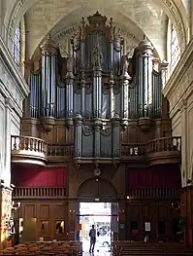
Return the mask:
<svg viewBox="0 0 193 256"><path fill-rule="evenodd" d="M170 100L171 95L177 89L178 84L182 80L185 72L187 71L190 63L193 61L193 38L186 46L185 51L181 55L177 67L163 90L164 96Z"/></svg>

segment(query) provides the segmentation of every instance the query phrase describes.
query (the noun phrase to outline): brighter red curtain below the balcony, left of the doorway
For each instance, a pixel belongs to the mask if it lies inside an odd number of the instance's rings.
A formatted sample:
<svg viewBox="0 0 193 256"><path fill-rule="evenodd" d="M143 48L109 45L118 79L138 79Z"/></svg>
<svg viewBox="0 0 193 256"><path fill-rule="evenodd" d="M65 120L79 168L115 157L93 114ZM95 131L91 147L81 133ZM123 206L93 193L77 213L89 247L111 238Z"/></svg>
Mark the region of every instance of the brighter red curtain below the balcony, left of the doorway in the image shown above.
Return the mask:
<svg viewBox="0 0 193 256"><path fill-rule="evenodd" d="M66 187L65 167L19 166L12 174L16 187Z"/></svg>

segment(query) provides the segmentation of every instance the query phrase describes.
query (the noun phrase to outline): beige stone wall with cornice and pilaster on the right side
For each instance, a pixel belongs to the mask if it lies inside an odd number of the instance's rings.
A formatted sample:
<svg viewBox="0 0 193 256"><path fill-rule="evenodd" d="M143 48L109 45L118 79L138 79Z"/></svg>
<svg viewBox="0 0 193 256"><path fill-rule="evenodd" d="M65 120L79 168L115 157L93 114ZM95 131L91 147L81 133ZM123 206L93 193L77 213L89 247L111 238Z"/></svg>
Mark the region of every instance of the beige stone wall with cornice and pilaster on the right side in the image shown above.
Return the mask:
<svg viewBox="0 0 193 256"><path fill-rule="evenodd" d="M193 179L193 39L164 89L170 102L173 135L180 135L182 186Z"/></svg>

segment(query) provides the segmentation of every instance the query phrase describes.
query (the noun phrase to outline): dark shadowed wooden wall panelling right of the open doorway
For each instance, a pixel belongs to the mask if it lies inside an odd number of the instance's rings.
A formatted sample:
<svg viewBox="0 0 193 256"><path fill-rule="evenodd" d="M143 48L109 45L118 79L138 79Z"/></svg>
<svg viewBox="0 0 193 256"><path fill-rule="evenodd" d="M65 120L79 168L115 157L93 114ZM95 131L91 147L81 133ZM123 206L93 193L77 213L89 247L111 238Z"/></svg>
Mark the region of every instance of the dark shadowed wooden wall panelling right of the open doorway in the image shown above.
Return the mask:
<svg viewBox="0 0 193 256"><path fill-rule="evenodd" d="M145 222L150 222L150 240L177 240L173 234L174 219L179 219L179 211L172 208L169 200L132 200L126 203L126 239L143 241ZM132 223L138 222L138 232L132 233ZM165 225L165 234L160 233L160 223Z"/></svg>

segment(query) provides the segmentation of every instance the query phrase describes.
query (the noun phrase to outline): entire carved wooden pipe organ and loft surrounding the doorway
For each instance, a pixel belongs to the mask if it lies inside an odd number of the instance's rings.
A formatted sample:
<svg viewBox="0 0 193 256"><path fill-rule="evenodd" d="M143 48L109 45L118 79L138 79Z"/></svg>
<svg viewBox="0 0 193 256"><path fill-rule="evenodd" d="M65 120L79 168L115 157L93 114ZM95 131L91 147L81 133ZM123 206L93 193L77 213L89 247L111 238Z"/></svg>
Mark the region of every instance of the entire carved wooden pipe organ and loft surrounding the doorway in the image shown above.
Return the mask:
<svg viewBox="0 0 193 256"><path fill-rule="evenodd" d="M129 51L127 43L97 12L65 49L48 35L26 63L30 95L12 137L21 240L74 239L80 201L114 203L114 239L143 240L150 223L152 241L179 240L180 137L162 93L167 63L146 37Z"/></svg>

